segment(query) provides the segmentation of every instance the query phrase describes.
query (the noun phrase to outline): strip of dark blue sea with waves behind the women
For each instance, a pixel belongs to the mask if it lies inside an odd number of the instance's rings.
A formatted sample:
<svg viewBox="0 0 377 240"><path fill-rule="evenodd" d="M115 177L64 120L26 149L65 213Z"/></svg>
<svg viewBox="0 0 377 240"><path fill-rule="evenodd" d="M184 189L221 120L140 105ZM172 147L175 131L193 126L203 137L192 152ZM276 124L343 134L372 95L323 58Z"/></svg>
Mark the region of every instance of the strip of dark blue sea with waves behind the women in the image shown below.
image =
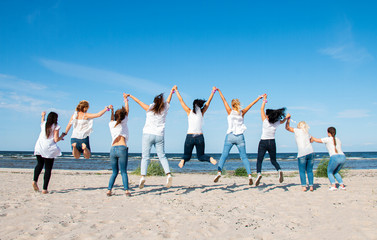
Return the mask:
<svg viewBox="0 0 377 240"><path fill-rule="evenodd" d="M349 169L377 169L377 152L347 152L345 153L347 161L345 168ZM171 171L174 173L181 172L212 172L217 170L214 166L207 162L200 162L193 154L191 161L187 162L183 169L178 167L179 161L182 159L183 154L167 153ZM208 153L216 160L220 159L221 154ZM277 160L283 171L297 171L297 153L278 153ZM156 154L151 154L152 161L158 160ZM255 172L257 154L250 153L248 158L251 164L251 169ZM316 153L314 169L317 168L320 160L329 158L328 153ZM128 159L128 170L133 171L141 161L141 153L130 153ZM31 151L0 151L0 168L29 168L32 169L36 165L36 158ZM226 170L235 170L243 167L239 155L229 154L228 160L225 163ZM111 170L109 153L92 153L90 159L75 159L72 153L64 152L61 157L55 159L54 169L72 169L72 170ZM275 168L269 161L269 156L263 162L263 171L275 171Z"/></svg>

